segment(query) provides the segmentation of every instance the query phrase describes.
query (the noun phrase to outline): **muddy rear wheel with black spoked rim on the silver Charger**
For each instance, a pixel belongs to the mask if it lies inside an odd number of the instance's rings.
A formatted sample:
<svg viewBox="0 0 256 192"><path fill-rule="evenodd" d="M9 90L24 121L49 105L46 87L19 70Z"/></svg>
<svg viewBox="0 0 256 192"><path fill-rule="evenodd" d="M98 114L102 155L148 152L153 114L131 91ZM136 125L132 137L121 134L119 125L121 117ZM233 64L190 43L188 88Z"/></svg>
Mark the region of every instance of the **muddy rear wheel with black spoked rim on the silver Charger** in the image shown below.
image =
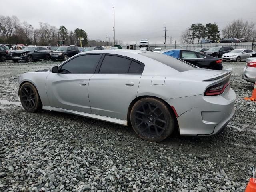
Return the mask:
<svg viewBox="0 0 256 192"><path fill-rule="evenodd" d="M142 98L132 107L130 113L132 128L140 138L152 142L166 139L175 128L173 114L156 98Z"/></svg>

